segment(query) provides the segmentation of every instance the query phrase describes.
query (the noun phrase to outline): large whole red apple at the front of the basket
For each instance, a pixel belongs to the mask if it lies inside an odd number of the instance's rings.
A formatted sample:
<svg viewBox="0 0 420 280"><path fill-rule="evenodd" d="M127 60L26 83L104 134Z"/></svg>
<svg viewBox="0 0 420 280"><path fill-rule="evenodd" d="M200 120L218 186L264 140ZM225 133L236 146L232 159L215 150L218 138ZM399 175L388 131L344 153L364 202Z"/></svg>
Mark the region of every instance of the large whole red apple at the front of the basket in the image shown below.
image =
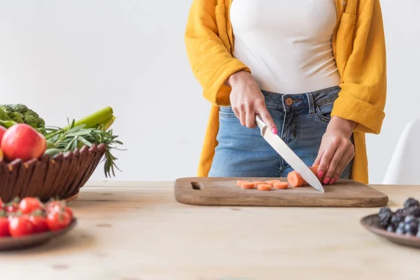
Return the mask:
<svg viewBox="0 0 420 280"><path fill-rule="evenodd" d="M18 123L6 130L0 147L6 160L13 161L20 158L25 162L41 157L47 148L47 141L30 125Z"/></svg>

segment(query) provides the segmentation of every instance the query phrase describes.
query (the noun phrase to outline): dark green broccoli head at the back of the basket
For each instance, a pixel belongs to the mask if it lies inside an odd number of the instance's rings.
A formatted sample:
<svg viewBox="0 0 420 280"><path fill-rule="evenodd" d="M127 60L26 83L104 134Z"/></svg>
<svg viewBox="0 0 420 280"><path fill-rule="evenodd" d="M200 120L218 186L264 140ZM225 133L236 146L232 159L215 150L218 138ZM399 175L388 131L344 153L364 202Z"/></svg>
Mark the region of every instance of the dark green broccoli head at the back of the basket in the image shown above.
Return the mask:
<svg viewBox="0 0 420 280"><path fill-rule="evenodd" d="M45 127L45 121L43 118L24 104L0 105L0 109L6 111L8 116L16 123L26 123L34 128Z"/></svg>

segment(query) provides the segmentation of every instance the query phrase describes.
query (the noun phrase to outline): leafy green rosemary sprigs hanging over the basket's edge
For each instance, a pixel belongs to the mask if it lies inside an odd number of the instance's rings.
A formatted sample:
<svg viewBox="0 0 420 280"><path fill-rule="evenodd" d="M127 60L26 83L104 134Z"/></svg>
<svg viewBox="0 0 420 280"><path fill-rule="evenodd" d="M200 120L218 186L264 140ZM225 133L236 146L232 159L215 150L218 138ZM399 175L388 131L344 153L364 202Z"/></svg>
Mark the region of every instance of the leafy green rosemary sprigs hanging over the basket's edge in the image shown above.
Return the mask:
<svg viewBox="0 0 420 280"><path fill-rule="evenodd" d="M115 144L123 145L123 142L116 140L117 135L113 135L112 130L104 131L104 127L85 128L85 125L75 125L73 120L69 124L68 129L62 127L45 127L43 134L45 139L52 142L55 148L62 150L63 153L74 151L76 148L82 148L84 145L91 147L93 144L105 144L105 158L104 173L106 177L116 176L114 168L118 169L116 165L116 158L111 150L120 150L113 146ZM118 169L120 170L120 169ZM120 170L121 171L121 170Z"/></svg>

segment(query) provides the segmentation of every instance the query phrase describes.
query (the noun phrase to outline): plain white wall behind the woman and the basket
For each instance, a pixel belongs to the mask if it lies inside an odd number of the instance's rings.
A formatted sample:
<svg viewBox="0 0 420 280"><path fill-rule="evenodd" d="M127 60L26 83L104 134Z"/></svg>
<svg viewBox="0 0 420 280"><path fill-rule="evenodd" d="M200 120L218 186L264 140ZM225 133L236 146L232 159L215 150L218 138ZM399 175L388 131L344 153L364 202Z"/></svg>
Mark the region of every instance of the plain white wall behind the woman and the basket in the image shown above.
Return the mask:
<svg viewBox="0 0 420 280"><path fill-rule="evenodd" d="M118 180L195 176L209 104L190 71L183 33L191 0L0 0L0 103L23 102L49 125L111 105ZM388 102L367 137L380 183L403 125L420 116L420 1L382 0ZM102 166L91 179L104 179Z"/></svg>

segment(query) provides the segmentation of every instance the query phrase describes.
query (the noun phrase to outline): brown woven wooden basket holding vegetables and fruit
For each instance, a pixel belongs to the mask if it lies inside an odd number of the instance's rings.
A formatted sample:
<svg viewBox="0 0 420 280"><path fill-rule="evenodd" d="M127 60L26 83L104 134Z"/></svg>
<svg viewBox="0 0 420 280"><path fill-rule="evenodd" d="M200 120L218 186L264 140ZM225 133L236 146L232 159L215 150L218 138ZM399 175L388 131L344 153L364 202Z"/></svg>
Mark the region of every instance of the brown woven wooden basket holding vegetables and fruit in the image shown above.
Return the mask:
<svg viewBox="0 0 420 280"><path fill-rule="evenodd" d="M59 153L52 158L22 162L0 162L0 197L10 202L14 197L38 197L45 202L50 197L69 200L76 197L105 153L105 144L83 146L80 151Z"/></svg>

